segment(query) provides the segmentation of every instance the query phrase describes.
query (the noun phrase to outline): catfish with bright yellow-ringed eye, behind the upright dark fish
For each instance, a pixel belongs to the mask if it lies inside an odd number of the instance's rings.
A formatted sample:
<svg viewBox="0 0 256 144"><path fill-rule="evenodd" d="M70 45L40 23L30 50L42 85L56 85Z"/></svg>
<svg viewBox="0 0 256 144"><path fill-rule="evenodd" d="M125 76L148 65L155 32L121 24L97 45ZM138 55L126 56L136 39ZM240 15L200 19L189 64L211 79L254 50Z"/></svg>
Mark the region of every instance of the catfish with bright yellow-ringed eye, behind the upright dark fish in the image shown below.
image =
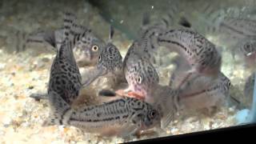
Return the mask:
<svg viewBox="0 0 256 144"><path fill-rule="evenodd" d="M36 31L26 38L26 42L46 42L56 50L62 44L64 29ZM77 38L79 39L74 40L76 43L74 49L82 52L82 55L79 55L76 59L79 66L95 66L98 62L100 51L106 43L85 26L75 25L72 29L74 34L78 35Z"/></svg>

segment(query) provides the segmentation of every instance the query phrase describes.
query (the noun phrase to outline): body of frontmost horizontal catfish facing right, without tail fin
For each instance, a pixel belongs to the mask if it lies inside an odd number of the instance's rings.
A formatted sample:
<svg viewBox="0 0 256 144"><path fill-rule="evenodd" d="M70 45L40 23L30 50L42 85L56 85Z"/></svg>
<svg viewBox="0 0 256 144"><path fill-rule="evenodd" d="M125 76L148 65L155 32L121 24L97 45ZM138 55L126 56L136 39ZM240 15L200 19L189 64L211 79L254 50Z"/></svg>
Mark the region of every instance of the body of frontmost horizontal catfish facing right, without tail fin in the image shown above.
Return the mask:
<svg viewBox="0 0 256 144"><path fill-rule="evenodd" d="M150 104L135 98L121 98L73 110L70 118L63 123L90 133L127 136L138 130L153 128L159 122L159 112Z"/></svg>

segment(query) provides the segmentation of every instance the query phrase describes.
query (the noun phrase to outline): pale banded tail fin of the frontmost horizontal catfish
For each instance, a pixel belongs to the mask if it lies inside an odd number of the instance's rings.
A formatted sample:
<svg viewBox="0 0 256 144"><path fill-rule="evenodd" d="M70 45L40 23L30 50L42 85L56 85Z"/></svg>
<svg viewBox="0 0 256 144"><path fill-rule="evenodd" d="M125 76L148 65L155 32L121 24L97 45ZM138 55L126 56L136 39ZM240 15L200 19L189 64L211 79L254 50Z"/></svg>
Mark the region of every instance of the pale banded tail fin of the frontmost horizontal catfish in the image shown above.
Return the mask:
<svg viewBox="0 0 256 144"><path fill-rule="evenodd" d="M66 125L72 109L57 93L49 93L50 114L42 126Z"/></svg>

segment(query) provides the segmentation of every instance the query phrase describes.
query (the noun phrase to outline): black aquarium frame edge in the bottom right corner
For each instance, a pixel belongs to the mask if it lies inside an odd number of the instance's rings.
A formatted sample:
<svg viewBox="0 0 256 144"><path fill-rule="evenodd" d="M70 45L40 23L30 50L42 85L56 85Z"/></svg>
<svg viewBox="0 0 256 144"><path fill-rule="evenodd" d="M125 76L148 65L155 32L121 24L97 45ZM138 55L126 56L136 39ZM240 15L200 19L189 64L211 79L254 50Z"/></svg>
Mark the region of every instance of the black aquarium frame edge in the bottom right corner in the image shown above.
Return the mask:
<svg viewBox="0 0 256 144"><path fill-rule="evenodd" d="M240 140L242 142L255 142L256 138L256 123L250 123L240 126L230 126L226 128L219 128L214 130L204 130L199 132L193 132L188 134L178 134L167 137L159 137L159 138L151 138L146 140L139 140L135 142L126 142L126 143L158 143L160 142L168 142L172 144L176 144L179 142L218 142L224 143L233 142ZM254 138L254 139L253 139ZM225 139L225 141L223 141ZM175 142L175 143L174 143Z"/></svg>

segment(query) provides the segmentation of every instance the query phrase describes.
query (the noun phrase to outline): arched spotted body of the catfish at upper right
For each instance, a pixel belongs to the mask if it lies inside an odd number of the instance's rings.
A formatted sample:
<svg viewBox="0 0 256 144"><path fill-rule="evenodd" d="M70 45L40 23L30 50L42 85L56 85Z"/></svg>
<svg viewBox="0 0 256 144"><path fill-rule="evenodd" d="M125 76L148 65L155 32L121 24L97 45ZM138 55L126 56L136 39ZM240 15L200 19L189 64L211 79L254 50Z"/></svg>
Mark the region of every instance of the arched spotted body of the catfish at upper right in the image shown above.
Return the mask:
<svg viewBox="0 0 256 144"><path fill-rule="evenodd" d="M158 44L175 49L199 74L218 76L222 56L214 44L194 30L167 30L159 34Z"/></svg>

